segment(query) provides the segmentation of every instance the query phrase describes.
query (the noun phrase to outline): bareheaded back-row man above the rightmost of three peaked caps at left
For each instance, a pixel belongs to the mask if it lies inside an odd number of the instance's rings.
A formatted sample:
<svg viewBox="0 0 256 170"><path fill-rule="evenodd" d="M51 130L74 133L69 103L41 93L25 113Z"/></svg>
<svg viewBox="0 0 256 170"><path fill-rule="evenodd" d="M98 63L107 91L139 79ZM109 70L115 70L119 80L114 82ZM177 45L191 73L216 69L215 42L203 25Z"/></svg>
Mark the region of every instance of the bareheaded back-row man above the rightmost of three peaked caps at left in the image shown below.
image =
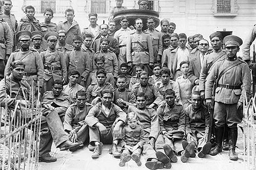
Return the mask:
<svg viewBox="0 0 256 170"><path fill-rule="evenodd" d="M47 34L49 31L57 31L57 24L51 22L53 18L53 10L50 8L45 9L44 11L44 21L40 23L41 25L41 32L43 34L43 37L45 34ZM47 48L47 42L43 39L42 40L42 47Z"/></svg>

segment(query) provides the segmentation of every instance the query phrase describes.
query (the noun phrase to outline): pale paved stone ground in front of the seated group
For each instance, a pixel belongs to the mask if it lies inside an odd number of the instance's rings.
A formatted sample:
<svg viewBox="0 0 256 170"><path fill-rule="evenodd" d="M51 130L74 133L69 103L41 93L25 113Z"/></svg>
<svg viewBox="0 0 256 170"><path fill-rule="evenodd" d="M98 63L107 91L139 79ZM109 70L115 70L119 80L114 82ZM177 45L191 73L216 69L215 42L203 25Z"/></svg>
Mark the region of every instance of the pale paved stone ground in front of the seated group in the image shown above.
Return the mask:
<svg viewBox="0 0 256 170"><path fill-rule="evenodd" d="M229 160L228 152L222 152L216 156L206 155L203 159L196 156L189 158L186 163L182 163L178 157L178 162L172 163L171 170L244 170L241 130L238 131L237 146L238 161ZM138 167L133 160L126 163L125 167L119 167L119 159L108 153L109 147L110 145L104 145L102 155L96 160L91 158L92 152L88 150L87 146L74 153L59 151L53 147L51 154L56 156L58 161L53 163L41 162L39 163L39 170L148 170L144 165L143 156L141 157L141 167Z"/></svg>

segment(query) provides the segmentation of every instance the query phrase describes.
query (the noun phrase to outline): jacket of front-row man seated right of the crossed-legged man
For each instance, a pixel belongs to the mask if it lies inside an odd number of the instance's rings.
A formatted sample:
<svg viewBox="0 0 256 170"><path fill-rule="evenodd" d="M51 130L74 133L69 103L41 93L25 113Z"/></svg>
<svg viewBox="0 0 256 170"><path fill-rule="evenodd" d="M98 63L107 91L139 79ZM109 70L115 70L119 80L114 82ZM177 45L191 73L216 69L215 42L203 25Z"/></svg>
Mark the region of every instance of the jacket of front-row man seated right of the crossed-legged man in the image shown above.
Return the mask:
<svg viewBox="0 0 256 170"><path fill-rule="evenodd" d="M91 108L92 105L88 102L85 103L83 108L79 108L77 103L68 106L63 122L64 130L72 131L79 126L82 126L84 124L84 119Z"/></svg>

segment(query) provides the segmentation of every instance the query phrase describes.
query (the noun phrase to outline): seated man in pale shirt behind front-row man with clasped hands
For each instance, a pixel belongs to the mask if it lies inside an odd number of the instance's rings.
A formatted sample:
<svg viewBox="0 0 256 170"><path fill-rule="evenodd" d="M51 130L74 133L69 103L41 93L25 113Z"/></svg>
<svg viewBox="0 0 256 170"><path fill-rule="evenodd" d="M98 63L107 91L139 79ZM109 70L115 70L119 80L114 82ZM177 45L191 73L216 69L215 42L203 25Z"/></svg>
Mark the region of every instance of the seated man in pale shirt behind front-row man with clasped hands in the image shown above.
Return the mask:
<svg viewBox="0 0 256 170"><path fill-rule="evenodd" d="M79 90L84 90L84 87L78 84L80 73L77 70L73 70L69 73L69 83L63 86L63 92L69 95L72 103L76 101L76 94Z"/></svg>

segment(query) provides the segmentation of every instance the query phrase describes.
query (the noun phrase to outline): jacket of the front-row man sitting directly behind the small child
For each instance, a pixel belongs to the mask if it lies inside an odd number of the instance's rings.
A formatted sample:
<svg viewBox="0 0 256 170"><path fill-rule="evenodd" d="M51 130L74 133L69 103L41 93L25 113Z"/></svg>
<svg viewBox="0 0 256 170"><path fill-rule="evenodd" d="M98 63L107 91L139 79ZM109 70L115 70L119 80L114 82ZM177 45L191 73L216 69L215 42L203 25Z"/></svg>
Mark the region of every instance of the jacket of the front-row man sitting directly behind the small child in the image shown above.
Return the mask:
<svg viewBox="0 0 256 170"><path fill-rule="evenodd" d="M128 107L128 113L129 112L136 113L143 130L150 134L149 138L154 137L157 139L159 134L159 121L156 110L150 107L139 110L136 106L131 105Z"/></svg>

